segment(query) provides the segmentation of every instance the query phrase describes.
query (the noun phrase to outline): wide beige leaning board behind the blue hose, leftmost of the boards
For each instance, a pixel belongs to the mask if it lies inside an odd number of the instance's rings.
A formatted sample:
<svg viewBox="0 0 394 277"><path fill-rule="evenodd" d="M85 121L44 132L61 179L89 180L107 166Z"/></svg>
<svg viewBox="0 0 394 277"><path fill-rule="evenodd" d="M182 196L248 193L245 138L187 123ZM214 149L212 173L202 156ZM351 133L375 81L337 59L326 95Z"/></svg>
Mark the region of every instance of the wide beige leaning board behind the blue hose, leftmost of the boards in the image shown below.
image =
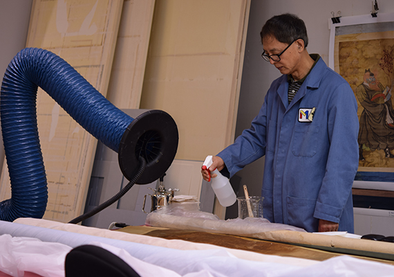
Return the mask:
<svg viewBox="0 0 394 277"><path fill-rule="evenodd" d="M26 46L59 55L106 96L122 5L121 0L35 0ZM44 218L68 222L84 209L97 140L41 89L37 119L48 179ZM8 198L4 163L0 199Z"/></svg>

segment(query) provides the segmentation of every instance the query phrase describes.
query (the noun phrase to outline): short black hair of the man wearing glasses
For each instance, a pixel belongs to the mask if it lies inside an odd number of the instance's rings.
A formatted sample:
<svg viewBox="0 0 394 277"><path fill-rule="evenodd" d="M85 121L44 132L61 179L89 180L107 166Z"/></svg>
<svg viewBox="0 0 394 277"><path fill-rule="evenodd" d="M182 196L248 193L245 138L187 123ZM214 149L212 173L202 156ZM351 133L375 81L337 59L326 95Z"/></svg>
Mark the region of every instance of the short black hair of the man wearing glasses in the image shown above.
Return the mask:
<svg viewBox="0 0 394 277"><path fill-rule="evenodd" d="M297 15L290 13L276 15L265 22L260 36L261 40L264 37L274 37L285 44L291 44L296 39L302 39L305 47L308 46L305 23Z"/></svg>

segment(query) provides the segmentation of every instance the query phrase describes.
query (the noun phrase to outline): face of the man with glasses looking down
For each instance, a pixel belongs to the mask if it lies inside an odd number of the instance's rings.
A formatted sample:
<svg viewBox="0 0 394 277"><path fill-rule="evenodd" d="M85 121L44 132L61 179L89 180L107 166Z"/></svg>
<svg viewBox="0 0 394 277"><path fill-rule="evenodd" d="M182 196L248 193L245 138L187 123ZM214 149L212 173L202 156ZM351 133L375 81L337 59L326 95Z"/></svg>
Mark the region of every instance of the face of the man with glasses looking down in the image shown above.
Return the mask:
<svg viewBox="0 0 394 277"><path fill-rule="evenodd" d="M279 42L274 37L265 37L263 39L263 50L267 55L278 55L281 53L289 44ZM270 59L270 63L274 64L276 69L279 69L282 74L292 74L297 69L299 62L299 52L297 51L297 44L294 42L289 48L282 53L281 60L274 62Z"/></svg>

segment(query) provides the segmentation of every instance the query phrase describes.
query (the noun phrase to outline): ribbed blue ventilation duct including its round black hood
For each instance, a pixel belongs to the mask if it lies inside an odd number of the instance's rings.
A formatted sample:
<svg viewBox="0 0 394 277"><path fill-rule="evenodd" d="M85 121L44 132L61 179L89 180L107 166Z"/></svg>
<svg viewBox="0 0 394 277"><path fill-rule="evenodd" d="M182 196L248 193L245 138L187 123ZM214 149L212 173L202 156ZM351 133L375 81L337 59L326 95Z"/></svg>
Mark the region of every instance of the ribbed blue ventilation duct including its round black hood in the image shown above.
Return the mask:
<svg viewBox="0 0 394 277"><path fill-rule="evenodd" d="M8 65L1 84L0 115L12 197L0 202L0 220L43 217L48 202L37 129L37 88L48 93L77 123L118 152L120 169L131 180L147 161L138 184L149 184L171 165L178 128L165 111L131 118L111 104L73 67L50 51L25 48Z"/></svg>

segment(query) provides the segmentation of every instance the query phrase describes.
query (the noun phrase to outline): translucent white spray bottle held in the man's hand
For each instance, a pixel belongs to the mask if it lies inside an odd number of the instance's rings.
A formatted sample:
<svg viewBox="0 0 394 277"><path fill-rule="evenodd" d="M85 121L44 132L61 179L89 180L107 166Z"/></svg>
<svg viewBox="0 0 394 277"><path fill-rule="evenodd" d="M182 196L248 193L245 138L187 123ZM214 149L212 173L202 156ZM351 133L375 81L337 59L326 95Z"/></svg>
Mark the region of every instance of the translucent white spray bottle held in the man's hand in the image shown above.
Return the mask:
<svg viewBox="0 0 394 277"><path fill-rule="evenodd" d="M209 166L212 166L212 156L208 156L205 158L203 163L203 170L208 170L209 172L209 181L211 181L211 172L209 171ZM229 179L221 175L221 172L216 168L213 171L217 176L212 178L212 189L216 197L219 200L219 203L223 207L232 206L236 202L236 195L234 190L232 189L231 184L229 183Z"/></svg>

